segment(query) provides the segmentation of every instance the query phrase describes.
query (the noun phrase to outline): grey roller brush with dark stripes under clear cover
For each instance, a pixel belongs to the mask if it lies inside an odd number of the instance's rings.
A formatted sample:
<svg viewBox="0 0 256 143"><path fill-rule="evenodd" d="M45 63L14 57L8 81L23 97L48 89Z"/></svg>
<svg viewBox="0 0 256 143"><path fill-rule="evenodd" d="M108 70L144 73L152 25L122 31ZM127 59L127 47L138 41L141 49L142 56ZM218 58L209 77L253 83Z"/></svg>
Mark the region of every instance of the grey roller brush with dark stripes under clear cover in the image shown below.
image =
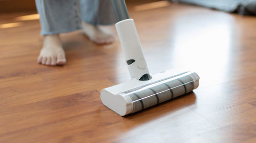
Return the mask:
<svg viewBox="0 0 256 143"><path fill-rule="evenodd" d="M131 112L133 113L186 94L193 89L193 78L190 75L185 75L148 85L141 90L128 93L126 96L133 101L133 111Z"/></svg>

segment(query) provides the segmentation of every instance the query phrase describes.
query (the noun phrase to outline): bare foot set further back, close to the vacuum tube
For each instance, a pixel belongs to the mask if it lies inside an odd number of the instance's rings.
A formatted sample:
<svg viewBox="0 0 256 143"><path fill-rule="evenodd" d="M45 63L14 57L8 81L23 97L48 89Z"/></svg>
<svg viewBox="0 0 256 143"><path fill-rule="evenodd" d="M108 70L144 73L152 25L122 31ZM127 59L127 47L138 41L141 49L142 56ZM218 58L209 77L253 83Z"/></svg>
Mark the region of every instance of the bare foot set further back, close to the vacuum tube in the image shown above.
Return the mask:
<svg viewBox="0 0 256 143"><path fill-rule="evenodd" d="M113 35L104 33L99 27L82 22L82 32L96 44L109 44L115 41Z"/></svg>

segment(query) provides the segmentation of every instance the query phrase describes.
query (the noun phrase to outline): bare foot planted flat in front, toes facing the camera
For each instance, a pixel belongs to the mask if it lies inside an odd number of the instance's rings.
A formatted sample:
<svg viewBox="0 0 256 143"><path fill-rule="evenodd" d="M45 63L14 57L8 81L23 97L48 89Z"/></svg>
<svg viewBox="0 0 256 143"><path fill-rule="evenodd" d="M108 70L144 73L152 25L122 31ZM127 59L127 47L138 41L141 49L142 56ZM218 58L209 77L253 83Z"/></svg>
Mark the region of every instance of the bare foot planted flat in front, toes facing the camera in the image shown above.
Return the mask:
<svg viewBox="0 0 256 143"><path fill-rule="evenodd" d="M59 35L46 35L44 37L44 45L37 58L37 62L43 65L56 66L66 64L65 51Z"/></svg>

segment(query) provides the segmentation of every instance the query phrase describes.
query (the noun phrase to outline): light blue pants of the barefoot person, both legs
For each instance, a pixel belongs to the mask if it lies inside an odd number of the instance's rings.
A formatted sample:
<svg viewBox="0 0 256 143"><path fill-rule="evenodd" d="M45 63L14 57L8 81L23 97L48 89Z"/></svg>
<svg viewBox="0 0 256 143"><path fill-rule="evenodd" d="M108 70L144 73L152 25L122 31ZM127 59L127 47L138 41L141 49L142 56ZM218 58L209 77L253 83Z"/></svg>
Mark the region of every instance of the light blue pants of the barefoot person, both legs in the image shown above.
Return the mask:
<svg viewBox="0 0 256 143"><path fill-rule="evenodd" d="M81 28L81 20L94 25L114 24L111 0L35 0L41 35L67 33Z"/></svg>

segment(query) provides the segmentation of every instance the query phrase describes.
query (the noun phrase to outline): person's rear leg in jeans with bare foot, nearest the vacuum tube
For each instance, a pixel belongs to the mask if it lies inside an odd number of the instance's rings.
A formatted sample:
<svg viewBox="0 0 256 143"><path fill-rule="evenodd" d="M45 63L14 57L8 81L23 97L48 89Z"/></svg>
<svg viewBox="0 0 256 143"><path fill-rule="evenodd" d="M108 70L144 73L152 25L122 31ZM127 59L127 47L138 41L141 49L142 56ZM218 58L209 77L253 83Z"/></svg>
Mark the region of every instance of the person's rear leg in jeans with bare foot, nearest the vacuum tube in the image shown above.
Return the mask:
<svg viewBox="0 0 256 143"><path fill-rule="evenodd" d="M116 23L111 0L80 0L80 6L83 33L97 44L113 42L114 37L97 26Z"/></svg>

